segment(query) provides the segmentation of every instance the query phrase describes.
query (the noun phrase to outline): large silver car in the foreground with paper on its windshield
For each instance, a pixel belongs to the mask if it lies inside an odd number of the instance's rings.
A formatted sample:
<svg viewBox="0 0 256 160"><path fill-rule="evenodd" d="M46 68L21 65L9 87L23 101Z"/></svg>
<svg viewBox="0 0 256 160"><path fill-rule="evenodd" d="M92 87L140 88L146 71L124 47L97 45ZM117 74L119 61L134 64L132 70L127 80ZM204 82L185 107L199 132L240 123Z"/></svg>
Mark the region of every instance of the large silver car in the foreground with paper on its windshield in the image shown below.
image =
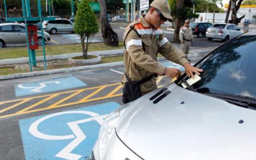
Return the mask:
<svg viewBox="0 0 256 160"><path fill-rule="evenodd" d="M92 159L255 160L256 33L226 42L186 74L110 113Z"/></svg>

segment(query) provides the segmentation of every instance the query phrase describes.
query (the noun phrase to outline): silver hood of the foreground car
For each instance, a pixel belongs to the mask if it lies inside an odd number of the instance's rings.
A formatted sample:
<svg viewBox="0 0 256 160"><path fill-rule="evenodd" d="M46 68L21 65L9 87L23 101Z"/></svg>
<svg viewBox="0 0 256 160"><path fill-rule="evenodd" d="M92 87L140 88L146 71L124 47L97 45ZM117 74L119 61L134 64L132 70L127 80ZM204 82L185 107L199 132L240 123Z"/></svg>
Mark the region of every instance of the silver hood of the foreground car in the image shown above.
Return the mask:
<svg viewBox="0 0 256 160"><path fill-rule="evenodd" d="M180 88L157 104L136 100L116 125L116 134L143 159L256 158L256 111ZM243 123L241 123L243 121ZM240 122L240 123L239 123Z"/></svg>

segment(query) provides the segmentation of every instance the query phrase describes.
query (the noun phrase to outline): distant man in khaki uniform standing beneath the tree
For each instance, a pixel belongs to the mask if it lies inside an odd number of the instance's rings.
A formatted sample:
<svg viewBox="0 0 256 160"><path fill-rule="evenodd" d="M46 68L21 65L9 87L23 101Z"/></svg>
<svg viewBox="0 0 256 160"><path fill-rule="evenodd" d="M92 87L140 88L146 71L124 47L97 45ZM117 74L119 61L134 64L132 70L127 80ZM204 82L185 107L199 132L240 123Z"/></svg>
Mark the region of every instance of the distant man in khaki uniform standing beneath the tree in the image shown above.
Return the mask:
<svg viewBox="0 0 256 160"><path fill-rule="evenodd" d="M193 32L191 28L189 28L189 20L185 20L184 26L180 28L180 44L181 49L186 55L186 58L188 58L188 53L190 49L190 42L194 42Z"/></svg>

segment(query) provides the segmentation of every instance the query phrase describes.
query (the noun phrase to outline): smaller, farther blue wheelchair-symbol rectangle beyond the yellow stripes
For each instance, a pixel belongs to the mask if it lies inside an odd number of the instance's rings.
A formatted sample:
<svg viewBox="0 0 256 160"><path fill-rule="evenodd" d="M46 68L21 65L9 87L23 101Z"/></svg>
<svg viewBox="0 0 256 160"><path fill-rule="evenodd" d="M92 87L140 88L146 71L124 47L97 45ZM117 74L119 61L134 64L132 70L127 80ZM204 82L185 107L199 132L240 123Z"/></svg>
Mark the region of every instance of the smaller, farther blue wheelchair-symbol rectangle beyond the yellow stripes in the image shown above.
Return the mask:
<svg viewBox="0 0 256 160"><path fill-rule="evenodd" d="M65 90L81 86L86 86L86 84L77 79L76 77L58 77L54 79L47 79L44 81L33 81L29 83L17 84L15 85L15 95L16 97L19 97L22 95L53 92L57 90Z"/></svg>

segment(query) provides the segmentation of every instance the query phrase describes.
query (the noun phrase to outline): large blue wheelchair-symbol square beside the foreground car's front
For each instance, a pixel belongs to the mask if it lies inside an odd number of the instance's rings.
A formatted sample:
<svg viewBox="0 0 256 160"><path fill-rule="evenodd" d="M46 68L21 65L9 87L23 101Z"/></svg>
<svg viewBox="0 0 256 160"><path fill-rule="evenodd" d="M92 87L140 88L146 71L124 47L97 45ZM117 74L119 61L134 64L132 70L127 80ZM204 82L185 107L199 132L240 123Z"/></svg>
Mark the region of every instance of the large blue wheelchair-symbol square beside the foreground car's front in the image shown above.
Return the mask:
<svg viewBox="0 0 256 160"><path fill-rule="evenodd" d="M26 160L90 156L102 118L119 107L108 102L19 120Z"/></svg>

